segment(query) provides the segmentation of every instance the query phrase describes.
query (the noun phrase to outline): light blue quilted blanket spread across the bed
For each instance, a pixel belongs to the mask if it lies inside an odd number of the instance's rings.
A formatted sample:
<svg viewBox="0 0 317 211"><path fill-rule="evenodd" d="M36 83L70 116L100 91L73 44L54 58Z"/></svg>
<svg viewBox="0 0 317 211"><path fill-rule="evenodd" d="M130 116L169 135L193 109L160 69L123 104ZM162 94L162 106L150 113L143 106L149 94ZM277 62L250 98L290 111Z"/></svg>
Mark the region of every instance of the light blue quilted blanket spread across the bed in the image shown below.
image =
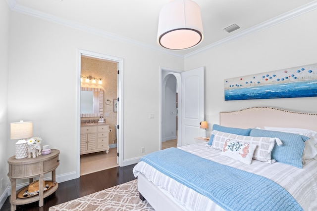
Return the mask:
<svg viewBox="0 0 317 211"><path fill-rule="evenodd" d="M228 211L303 211L294 197L272 180L177 148L151 153L140 161Z"/></svg>

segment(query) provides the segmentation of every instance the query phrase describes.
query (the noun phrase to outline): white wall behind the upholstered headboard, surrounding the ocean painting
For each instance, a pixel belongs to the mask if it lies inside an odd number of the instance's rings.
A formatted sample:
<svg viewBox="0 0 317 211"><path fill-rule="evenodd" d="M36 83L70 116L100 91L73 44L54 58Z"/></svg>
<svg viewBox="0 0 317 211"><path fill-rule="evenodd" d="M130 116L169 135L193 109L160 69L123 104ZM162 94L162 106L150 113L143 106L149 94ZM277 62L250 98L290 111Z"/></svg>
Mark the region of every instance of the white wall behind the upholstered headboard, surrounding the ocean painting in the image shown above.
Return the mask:
<svg viewBox="0 0 317 211"><path fill-rule="evenodd" d="M317 10L185 59L185 70L205 66L205 115L211 126L219 112L253 106L317 112L317 97L224 101L224 80L317 63ZM254 118L254 117L249 117Z"/></svg>

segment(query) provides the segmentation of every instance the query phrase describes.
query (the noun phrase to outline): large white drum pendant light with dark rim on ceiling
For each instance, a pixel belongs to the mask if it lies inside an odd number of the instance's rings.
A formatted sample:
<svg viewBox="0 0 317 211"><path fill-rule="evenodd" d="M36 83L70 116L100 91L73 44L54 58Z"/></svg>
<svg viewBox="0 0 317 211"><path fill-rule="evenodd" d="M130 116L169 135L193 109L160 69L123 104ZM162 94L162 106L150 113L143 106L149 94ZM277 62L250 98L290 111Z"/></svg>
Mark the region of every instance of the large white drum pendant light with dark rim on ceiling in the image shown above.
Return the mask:
<svg viewBox="0 0 317 211"><path fill-rule="evenodd" d="M171 50L196 46L204 39L199 5L192 0L173 0L159 13L158 42Z"/></svg>

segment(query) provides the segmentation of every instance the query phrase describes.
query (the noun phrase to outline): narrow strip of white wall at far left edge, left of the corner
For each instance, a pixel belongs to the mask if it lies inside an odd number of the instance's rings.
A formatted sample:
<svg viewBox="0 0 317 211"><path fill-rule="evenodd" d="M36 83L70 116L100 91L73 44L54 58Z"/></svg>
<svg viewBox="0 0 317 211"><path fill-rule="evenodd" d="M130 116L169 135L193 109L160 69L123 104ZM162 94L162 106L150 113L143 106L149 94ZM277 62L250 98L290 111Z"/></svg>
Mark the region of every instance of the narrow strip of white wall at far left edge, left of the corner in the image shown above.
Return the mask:
<svg viewBox="0 0 317 211"><path fill-rule="evenodd" d="M9 179L7 177L8 155L7 146L14 145L15 141L10 140L9 124L7 122L7 91L8 91L8 42L9 42L9 8L6 1L0 1L0 208L4 201L1 197L4 194ZM13 152L15 154L15 152ZM12 154L12 155L13 155ZM4 170L5 169L5 170ZM1 184L2 183L2 184ZM6 198L5 198L6 199ZM5 200L4 199L4 200Z"/></svg>

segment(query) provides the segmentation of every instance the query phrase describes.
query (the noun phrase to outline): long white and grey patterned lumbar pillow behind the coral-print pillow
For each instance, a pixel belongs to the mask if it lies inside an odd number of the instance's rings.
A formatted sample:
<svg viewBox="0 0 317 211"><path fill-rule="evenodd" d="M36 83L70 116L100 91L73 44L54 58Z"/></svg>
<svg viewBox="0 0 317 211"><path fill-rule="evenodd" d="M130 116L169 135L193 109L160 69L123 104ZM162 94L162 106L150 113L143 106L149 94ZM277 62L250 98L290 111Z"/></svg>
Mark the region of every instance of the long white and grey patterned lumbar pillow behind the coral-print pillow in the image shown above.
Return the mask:
<svg viewBox="0 0 317 211"><path fill-rule="evenodd" d="M271 159L271 152L273 150L275 141L278 145L282 144L279 138L243 136L217 130L213 130L211 133L214 135L212 148L222 150L227 139L248 143L250 145L257 145L253 154L253 159L268 164L272 164L275 162L274 159Z"/></svg>

